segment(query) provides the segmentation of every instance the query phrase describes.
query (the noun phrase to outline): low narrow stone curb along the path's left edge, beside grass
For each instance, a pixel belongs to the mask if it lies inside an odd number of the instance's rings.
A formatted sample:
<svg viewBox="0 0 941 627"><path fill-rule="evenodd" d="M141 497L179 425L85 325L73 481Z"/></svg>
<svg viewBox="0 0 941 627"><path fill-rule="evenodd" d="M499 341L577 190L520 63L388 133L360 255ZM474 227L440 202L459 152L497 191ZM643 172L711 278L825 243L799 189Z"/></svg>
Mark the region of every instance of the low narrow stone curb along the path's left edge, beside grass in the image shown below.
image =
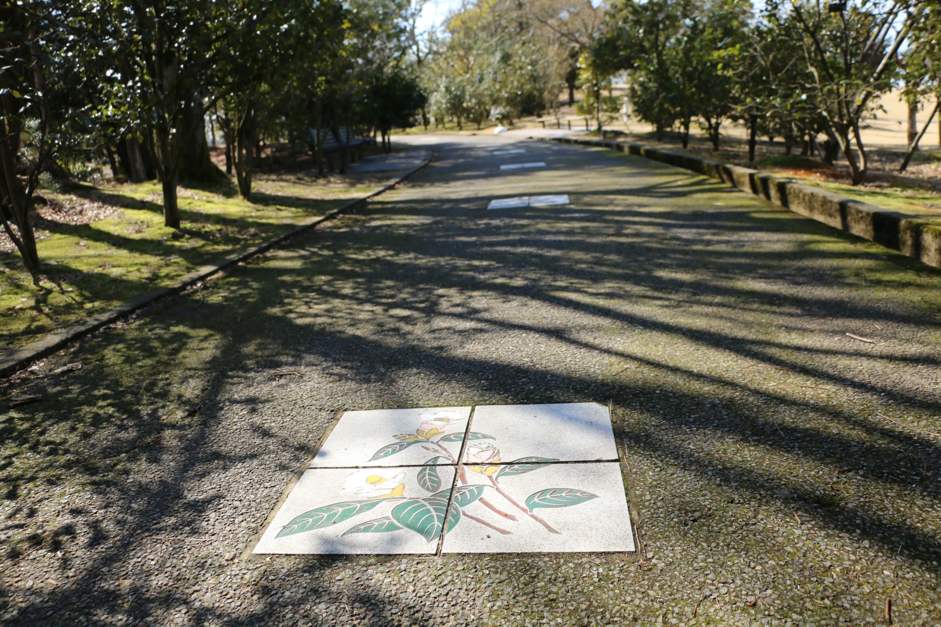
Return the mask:
<svg viewBox="0 0 941 627"><path fill-rule="evenodd" d="M231 267L232 265L245 261L246 259L255 257L256 255L261 255L264 252L267 252L271 248L278 246L281 243L285 243L288 240L300 235L301 233L311 230L311 228L321 225L327 220L332 220L343 212L346 212L353 207L356 207L361 202L365 202L370 198L379 196L385 192L388 192L393 187L406 180L408 177L412 176L424 166L431 163L431 157L428 156L423 160L419 165L416 165L412 169L408 170L404 175L399 177L396 180L390 180L377 189L372 194L367 196L362 196L354 200L350 200L344 205L334 209L331 212L327 212L324 215L319 217L308 218L307 220L301 222L297 227L292 228L286 233L282 233L276 238L268 240L267 242L260 243L249 248L244 248L242 250L236 251L227 255L226 257L214 261L208 265L204 265L201 268L197 268L191 273L184 274L178 279L171 281L166 286L157 288L156 290L151 290L146 294L142 294L128 303L109 309L100 314L92 316L84 321L72 324L72 326L66 327L64 329L59 329L46 337L43 337L40 340L37 340L26 346L22 349L18 349L0 357L0 377L6 377L14 372L22 370L30 363L45 357L51 353L55 353L63 346L71 342L72 340L78 339L79 337L87 336L89 333L93 333L98 329L102 328L106 324L110 324L114 321L118 321L125 316L128 316L134 313L136 310L142 308L143 306L150 305L156 300L169 296L171 294L179 293L186 288L198 283L201 280L204 280L213 274L221 272L226 268Z"/></svg>

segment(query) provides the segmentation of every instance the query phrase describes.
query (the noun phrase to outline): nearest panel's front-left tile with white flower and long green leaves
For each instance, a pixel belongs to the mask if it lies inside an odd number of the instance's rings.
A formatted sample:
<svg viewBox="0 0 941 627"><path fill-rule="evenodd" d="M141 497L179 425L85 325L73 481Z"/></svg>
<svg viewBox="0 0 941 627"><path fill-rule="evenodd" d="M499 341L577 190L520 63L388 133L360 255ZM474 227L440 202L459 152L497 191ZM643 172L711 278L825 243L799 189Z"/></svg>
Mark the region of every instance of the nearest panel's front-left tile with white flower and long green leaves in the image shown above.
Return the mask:
<svg viewBox="0 0 941 627"><path fill-rule="evenodd" d="M434 554L454 478L454 466L309 469L253 553Z"/></svg>

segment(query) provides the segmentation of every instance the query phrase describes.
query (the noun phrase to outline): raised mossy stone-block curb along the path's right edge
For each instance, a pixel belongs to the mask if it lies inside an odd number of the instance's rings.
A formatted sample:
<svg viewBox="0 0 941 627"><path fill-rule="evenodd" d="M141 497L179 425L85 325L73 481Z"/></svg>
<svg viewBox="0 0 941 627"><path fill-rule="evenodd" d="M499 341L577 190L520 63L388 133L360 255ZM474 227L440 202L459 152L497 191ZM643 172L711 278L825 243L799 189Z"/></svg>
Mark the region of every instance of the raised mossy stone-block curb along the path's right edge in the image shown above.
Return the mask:
<svg viewBox="0 0 941 627"><path fill-rule="evenodd" d="M794 180L778 179L747 167L723 164L670 150L575 137L554 137L548 141L618 150L724 180L743 192L769 200L792 212L880 243L886 248L898 250L903 255L935 268L941 268L941 225L928 220L859 202Z"/></svg>

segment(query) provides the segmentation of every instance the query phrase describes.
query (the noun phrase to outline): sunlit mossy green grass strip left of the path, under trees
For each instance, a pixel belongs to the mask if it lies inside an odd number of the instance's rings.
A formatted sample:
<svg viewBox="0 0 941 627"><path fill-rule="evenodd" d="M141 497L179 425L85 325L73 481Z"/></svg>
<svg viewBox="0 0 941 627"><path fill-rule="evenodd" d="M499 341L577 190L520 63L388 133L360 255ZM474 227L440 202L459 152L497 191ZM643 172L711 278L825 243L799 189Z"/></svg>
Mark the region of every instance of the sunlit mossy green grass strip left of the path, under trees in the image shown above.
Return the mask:
<svg viewBox="0 0 941 627"><path fill-rule="evenodd" d="M180 188L183 225L164 227L160 185L103 185L75 195L43 191L58 205L120 207L87 225L40 226L43 276L34 285L18 254L0 253L0 350L24 346L57 327L127 302L213 259L261 243L305 218L375 190L362 175L317 180L303 175L257 180L252 202L231 185ZM42 232L45 231L45 232Z"/></svg>

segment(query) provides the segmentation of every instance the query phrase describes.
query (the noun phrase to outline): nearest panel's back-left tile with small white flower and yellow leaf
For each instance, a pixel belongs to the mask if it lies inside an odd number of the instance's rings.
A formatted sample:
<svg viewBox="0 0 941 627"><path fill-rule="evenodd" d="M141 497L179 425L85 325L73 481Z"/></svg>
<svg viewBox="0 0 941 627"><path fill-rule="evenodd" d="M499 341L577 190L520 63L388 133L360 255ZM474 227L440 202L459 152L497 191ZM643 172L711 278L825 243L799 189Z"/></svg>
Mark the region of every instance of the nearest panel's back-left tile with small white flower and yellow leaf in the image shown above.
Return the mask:
<svg viewBox="0 0 941 627"><path fill-rule="evenodd" d="M456 463L470 407L346 412L311 468Z"/></svg>

